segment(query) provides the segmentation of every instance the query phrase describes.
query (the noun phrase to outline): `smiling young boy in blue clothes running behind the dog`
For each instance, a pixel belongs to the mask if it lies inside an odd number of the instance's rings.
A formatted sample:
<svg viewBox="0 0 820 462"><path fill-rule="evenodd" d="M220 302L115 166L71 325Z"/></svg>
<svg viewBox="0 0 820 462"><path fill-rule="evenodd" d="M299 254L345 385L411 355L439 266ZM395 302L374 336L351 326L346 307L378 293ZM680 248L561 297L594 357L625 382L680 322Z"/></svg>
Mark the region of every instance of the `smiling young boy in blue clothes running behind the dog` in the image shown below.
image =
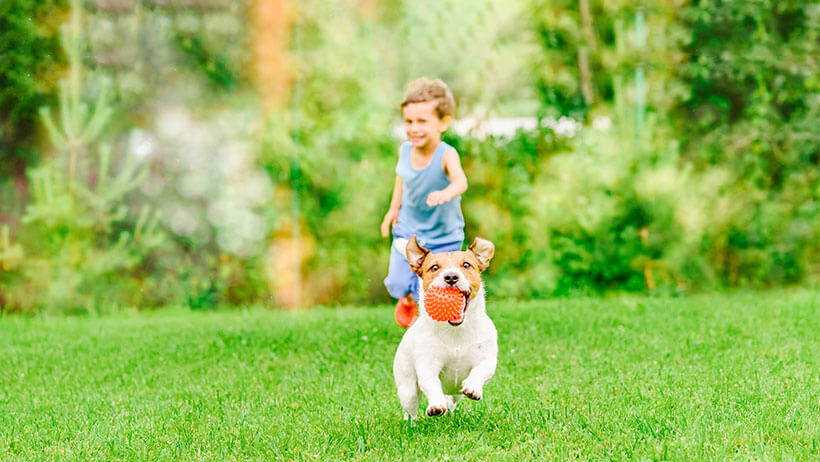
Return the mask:
<svg viewBox="0 0 820 462"><path fill-rule="evenodd" d="M441 141L455 110L453 94L441 80L420 78L408 85L401 110L409 141L399 147L396 185L381 224L382 237L392 226L394 242L406 242L415 234L419 244L433 252L461 250L461 194L467 190L467 177L456 150ZM399 299L396 322L409 327L416 318L419 283L403 247L391 246L384 285Z"/></svg>

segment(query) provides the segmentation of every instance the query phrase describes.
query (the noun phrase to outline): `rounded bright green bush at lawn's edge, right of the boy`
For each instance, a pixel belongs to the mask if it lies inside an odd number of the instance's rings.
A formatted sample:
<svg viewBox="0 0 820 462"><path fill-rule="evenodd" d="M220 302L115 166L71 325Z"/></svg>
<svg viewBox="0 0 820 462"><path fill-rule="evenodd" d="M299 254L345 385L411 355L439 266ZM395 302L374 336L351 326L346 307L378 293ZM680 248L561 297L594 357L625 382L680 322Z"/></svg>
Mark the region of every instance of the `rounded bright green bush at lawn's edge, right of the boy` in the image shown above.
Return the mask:
<svg viewBox="0 0 820 462"><path fill-rule="evenodd" d="M549 249L539 252L554 265L548 287L559 294L640 291L653 288L655 279L671 289L701 286L682 267L703 225L687 226L687 220L705 207L694 205L702 199L697 178L679 169L676 158L674 144L648 155L624 143L618 130L588 129L571 152L542 164L543 174L523 199L533 227L523 242L529 246L542 236L533 250Z"/></svg>

